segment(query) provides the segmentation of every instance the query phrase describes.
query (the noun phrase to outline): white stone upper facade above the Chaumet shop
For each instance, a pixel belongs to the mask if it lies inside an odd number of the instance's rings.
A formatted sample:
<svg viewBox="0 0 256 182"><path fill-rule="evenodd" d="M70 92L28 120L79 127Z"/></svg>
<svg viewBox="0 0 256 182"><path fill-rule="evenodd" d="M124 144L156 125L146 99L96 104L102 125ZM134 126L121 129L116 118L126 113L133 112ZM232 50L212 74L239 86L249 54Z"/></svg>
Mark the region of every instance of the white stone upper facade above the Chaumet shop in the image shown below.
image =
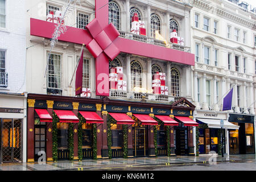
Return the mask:
<svg viewBox="0 0 256 182"><path fill-rule="evenodd" d="M199 27L195 27L195 14L199 15ZM209 31L203 30L204 17L209 18ZM218 99L220 99L230 86L240 86L240 105L237 103L237 91L233 92L233 107L237 113L254 114L253 76L255 60L255 14L245 12L240 6L229 1L193 1L191 10L191 49L195 53L195 45L199 44L199 62L193 70L193 101L197 109L208 110L206 101L206 90L204 80L210 81L210 108L213 110L222 109L222 100L217 103L216 81L218 82ZM217 21L217 34L213 31L213 22ZM231 27L231 36L228 38L228 26ZM253 28L254 26L254 28ZM238 42L235 40L234 29L240 30ZM246 42L243 43L243 32L246 32ZM204 64L204 47L209 47L209 65ZM214 65L214 49L218 50L218 65ZM228 53L231 54L231 69L228 69ZM240 71L236 72L235 56L240 57ZM243 72L243 58L246 58L246 71ZM197 82L200 78L200 101L197 100ZM213 104L216 104L213 106ZM240 111L243 108L243 111ZM250 109L250 112L247 110Z"/></svg>

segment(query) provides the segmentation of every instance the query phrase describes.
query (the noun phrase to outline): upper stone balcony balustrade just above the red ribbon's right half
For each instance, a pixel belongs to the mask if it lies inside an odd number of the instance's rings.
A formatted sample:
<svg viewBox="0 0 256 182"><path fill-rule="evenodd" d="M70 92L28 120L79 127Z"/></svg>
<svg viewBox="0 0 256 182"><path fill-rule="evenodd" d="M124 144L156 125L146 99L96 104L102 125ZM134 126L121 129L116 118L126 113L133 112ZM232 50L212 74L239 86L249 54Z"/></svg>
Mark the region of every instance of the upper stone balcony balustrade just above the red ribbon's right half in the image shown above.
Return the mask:
<svg viewBox="0 0 256 182"><path fill-rule="evenodd" d="M166 42L164 42L163 40L154 39L154 38L151 38L148 36L137 35L137 34L133 34L131 32L125 32L125 31L119 31L119 34L120 34L121 38L137 40L139 42L154 44L156 46L168 47ZM191 52L190 47L181 46L179 44L173 44L171 42L168 42L168 44L170 45L171 49L176 49L176 50L185 51L185 52Z"/></svg>

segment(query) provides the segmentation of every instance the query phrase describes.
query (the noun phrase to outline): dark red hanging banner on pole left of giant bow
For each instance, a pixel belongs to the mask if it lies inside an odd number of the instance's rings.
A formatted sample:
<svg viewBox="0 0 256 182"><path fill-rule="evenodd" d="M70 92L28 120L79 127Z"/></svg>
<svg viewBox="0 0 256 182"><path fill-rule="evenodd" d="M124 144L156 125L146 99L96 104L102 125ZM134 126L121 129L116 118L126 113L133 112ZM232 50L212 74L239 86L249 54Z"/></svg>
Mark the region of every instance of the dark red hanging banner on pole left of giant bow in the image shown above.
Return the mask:
<svg viewBox="0 0 256 182"><path fill-rule="evenodd" d="M82 93L82 65L84 63L84 49L79 60L79 65L76 69L76 96Z"/></svg>

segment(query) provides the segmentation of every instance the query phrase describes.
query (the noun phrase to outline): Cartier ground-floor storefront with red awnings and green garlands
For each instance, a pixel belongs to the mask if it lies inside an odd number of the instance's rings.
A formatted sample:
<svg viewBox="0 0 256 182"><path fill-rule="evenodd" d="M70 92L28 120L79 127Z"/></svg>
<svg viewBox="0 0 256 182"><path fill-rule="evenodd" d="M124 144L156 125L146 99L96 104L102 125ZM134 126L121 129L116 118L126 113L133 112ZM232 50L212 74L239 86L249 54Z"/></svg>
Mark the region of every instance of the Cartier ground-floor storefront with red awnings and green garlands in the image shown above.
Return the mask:
<svg viewBox="0 0 256 182"><path fill-rule="evenodd" d="M27 161L195 155L195 106L28 94ZM157 150L155 150L157 149ZM156 153L156 151L158 151Z"/></svg>

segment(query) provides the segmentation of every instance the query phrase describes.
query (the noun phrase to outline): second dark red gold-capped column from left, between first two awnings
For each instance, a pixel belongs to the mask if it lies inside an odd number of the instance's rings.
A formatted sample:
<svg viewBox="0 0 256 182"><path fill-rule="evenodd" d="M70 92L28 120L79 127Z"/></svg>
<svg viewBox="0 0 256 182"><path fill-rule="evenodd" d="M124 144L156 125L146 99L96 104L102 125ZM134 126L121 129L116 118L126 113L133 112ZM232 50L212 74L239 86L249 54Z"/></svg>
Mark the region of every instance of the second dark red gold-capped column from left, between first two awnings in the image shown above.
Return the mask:
<svg viewBox="0 0 256 182"><path fill-rule="evenodd" d="M54 101L46 101L47 111L52 116ZM52 123L46 123L46 159L47 161L53 161L52 159Z"/></svg>

